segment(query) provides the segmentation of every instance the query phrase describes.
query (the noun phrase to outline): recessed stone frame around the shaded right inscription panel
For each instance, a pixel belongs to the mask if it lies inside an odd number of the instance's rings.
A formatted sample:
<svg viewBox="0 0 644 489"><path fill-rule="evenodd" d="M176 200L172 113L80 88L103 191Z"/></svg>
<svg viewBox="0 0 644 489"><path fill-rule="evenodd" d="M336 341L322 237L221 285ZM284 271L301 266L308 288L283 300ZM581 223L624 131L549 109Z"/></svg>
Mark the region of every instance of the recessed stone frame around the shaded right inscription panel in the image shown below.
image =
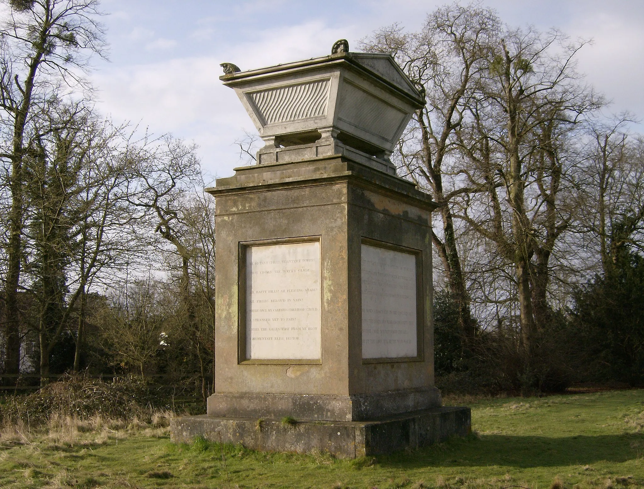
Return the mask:
<svg viewBox="0 0 644 489"><path fill-rule="evenodd" d="M413 255L415 257L415 272L416 272L416 355L415 356L396 356L396 357L379 357L379 358L363 358L363 364L390 364L390 363L402 363L402 362L423 362L424 361L424 331L426 328L426 315L424 311L424 287L422 281L422 251L416 250L414 248L407 248L405 246L394 245L393 243L386 243L384 241L377 241L375 239L370 239L363 237L361 245L374 246L375 248L383 248L384 250L391 250L394 252L404 253ZM363 323L363 295L362 295L362 246L361 246L361 264L360 264L360 273L361 273L361 297L360 297L360 318L361 318L361 349L363 346L363 330L365 324ZM362 355L361 355L362 356Z"/></svg>

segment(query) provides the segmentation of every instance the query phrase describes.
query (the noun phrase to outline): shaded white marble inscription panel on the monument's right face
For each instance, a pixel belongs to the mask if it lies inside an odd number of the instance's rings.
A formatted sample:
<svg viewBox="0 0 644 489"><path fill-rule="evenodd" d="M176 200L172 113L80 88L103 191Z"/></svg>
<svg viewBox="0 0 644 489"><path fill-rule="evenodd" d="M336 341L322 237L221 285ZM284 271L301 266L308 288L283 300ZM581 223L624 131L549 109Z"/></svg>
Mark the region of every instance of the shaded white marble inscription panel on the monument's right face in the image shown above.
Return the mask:
<svg viewBox="0 0 644 489"><path fill-rule="evenodd" d="M416 256L362 245L363 358L417 356Z"/></svg>

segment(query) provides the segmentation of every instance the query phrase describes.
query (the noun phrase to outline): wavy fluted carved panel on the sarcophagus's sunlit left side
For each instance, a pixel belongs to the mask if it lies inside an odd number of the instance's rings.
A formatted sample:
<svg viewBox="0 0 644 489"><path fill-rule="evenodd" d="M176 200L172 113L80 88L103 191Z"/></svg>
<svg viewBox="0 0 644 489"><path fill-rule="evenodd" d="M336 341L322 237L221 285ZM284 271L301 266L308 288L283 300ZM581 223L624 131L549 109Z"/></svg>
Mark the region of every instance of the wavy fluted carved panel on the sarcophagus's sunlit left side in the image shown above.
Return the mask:
<svg viewBox="0 0 644 489"><path fill-rule="evenodd" d="M330 78L249 93L263 124L327 115Z"/></svg>

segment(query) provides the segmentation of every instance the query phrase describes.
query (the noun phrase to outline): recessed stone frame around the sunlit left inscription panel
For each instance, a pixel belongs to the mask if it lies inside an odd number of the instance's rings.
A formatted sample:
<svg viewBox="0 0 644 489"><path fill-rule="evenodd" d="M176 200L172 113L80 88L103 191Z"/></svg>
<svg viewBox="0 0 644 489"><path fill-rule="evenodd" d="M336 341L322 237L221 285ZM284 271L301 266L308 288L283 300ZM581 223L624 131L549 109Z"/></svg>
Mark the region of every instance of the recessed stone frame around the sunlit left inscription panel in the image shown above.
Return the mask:
<svg viewBox="0 0 644 489"><path fill-rule="evenodd" d="M319 255L319 354L318 358L250 358L249 342L247 341L247 253L249 249L260 246L297 245L298 243L318 243ZM238 363L259 365L320 365L322 363L322 331L321 331L321 304L322 304L322 243L321 236L288 237L280 239L267 239L261 241L244 241L239 244L239 280L238 280Z"/></svg>

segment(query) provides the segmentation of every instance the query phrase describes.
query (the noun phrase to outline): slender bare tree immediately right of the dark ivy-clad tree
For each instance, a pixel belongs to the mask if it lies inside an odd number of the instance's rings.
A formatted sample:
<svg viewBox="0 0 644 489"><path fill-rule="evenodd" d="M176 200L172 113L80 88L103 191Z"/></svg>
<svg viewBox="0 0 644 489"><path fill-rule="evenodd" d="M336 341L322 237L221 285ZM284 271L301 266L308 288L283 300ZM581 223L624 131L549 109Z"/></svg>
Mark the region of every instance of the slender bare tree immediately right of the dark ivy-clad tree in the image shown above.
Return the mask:
<svg viewBox="0 0 644 489"><path fill-rule="evenodd" d="M149 235L142 232L145 212L129 203L129 182L140 158L126 125L94 122L86 165L79 175L75 196L74 238L68 276L75 289L68 295L68 311L77 320L73 370L79 371L84 344L85 306L88 290L111 287L113 279L133 263L147 263ZM78 305L77 305L78 304Z"/></svg>

